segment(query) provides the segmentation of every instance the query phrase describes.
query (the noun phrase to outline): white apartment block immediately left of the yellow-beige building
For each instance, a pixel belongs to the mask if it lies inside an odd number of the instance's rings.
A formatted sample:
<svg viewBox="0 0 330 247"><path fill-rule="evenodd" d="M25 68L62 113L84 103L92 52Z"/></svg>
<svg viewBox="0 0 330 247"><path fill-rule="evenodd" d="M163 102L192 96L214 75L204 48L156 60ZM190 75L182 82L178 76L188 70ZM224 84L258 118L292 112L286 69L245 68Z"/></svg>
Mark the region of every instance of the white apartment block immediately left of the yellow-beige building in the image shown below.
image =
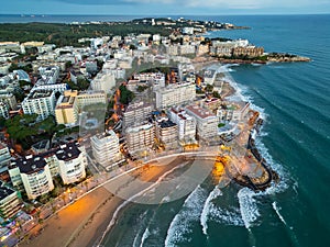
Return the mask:
<svg viewBox="0 0 330 247"><path fill-rule="evenodd" d="M55 91L32 91L22 102L24 114L37 114L38 120L44 120L54 114Z"/></svg>

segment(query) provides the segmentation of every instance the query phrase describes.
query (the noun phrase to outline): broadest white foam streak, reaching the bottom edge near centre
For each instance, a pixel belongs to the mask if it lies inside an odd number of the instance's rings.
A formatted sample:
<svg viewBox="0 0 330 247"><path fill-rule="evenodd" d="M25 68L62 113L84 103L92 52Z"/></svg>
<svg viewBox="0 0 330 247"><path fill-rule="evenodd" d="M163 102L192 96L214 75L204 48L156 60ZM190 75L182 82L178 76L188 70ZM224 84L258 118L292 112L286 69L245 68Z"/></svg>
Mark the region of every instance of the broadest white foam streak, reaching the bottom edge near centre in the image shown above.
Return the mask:
<svg viewBox="0 0 330 247"><path fill-rule="evenodd" d="M178 243L190 240L190 238L187 237L187 235L191 233L189 225L198 221L205 200L206 191L200 186L196 187L185 200L182 210L170 222L165 239L166 247L173 247Z"/></svg>

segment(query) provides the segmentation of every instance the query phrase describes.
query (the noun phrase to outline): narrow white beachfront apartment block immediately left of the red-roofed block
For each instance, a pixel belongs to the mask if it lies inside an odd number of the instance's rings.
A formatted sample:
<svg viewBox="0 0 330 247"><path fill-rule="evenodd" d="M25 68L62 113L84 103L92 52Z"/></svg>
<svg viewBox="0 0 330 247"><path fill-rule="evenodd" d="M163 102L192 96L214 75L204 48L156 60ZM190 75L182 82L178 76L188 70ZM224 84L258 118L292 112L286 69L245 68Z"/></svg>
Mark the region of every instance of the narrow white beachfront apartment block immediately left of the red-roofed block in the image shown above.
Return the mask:
<svg viewBox="0 0 330 247"><path fill-rule="evenodd" d="M179 141L184 143L196 142L196 120L188 115L184 109L172 108L169 119L177 124Z"/></svg>

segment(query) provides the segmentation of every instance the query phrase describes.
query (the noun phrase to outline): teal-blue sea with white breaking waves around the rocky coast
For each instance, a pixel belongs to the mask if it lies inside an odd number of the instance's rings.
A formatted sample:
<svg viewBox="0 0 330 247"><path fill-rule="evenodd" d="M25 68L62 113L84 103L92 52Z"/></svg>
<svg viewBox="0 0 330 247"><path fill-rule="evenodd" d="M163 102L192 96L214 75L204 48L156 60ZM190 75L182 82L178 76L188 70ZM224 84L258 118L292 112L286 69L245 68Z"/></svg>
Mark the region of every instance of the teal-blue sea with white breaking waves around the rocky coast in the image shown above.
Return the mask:
<svg viewBox="0 0 330 247"><path fill-rule="evenodd" d="M2 18L0 22L6 22ZM266 52L311 58L310 63L228 66L239 92L265 117L256 146L280 182L254 192L234 183L220 187L207 178L179 200L132 203L120 212L100 245L330 246L330 15L184 18L250 26L208 36L248 38ZM73 21L78 20L66 16L62 22Z"/></svg>

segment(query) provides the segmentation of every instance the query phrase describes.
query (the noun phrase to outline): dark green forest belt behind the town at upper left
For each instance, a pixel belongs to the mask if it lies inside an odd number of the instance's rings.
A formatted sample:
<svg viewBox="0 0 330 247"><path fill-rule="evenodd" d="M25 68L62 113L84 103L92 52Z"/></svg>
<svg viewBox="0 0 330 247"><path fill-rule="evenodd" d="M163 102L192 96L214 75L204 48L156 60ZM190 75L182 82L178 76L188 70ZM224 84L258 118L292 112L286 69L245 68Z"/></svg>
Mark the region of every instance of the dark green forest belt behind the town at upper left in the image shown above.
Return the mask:
<svg viewBox="0 0 330 247"><path fill-rule="evenodd" d="M0 42L2 41L41 41L56 46L85 46L78 43L82 37L128 35L130 33L147 33L169 35L170 30L164 26L117 22L103 24L63 24L63 23L3 23L0 24Z"/></svg>

